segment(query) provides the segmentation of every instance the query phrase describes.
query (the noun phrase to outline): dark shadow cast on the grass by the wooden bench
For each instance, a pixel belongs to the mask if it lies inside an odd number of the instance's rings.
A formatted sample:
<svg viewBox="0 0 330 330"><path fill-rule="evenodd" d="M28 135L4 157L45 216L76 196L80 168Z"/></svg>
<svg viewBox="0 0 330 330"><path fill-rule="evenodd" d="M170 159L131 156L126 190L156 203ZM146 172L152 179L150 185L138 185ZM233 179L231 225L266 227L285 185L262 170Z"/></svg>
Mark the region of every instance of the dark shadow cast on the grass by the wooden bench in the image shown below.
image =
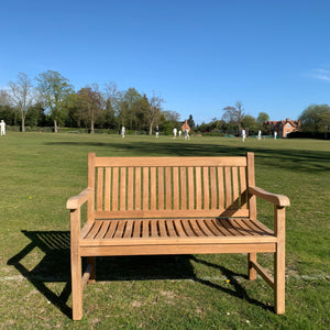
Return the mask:
<svg viewBox="0 0 330 330"><path fill-rule="evenodd" d="M22 230L22 233L31 242L11 257L8 264L14 266L48 301L72 318L72 307L67 304L72 294L69 231ZM33 270L29 271L23 260L36 248L44 253L44 256ZM195 255L116 256L97 260L99 261L97 261L97 280L190 279L248 300L265 310L271 309L270 306L250 298L238 282L239 277L246 279L246 275L234 273ZM219 273L230 280L233 289L212 283L212 279L197 277L191 261L219 270ZM50 283L64 283L64 289L58 295L57 290L53 292L47 286Z"/></svg>

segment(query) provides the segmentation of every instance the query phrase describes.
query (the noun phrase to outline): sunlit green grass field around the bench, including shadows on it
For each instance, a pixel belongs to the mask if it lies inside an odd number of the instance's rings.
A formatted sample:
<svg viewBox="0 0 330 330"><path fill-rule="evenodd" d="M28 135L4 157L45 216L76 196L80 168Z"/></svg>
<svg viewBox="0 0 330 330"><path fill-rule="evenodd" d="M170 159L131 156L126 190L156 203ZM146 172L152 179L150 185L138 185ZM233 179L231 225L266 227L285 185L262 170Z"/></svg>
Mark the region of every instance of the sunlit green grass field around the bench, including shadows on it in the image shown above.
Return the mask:
<svg viewBox="0 0 330 330"><path fill-rule="evenodd" d="M0 139L1 329L329 329L330 142L9 133ZM255 153L256 184L285 194L286 314L273 292L249 282L245 255L101 258L70 320L66 199L87 184L87 153L99 156L215 156ZM258 200L260 220L273 221ZM261 255L272 270L272 257Z"/></svg>

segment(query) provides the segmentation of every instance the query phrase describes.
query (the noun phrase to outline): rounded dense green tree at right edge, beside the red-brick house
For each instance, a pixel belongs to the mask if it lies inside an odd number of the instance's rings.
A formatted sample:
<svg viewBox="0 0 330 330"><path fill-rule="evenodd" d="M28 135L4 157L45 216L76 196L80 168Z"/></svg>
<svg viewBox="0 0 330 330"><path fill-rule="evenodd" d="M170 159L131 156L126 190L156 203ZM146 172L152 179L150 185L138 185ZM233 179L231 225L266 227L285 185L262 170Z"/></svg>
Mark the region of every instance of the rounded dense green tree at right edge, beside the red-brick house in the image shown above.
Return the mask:
<svg viewBox="0 0 330 330"><path fill-rule="evenodd" d="M299 117L302 131L327 132L329 130L330 107L328 105L311 105Z"/></svg>

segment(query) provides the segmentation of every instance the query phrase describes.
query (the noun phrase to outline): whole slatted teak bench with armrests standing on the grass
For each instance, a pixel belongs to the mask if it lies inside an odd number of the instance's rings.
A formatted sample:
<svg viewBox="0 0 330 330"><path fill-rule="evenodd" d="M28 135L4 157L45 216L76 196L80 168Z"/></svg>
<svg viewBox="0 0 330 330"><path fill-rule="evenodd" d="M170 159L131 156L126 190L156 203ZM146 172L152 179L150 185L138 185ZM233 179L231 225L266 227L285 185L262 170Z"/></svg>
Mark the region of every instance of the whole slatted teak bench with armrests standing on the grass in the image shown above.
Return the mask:
<svg viewBox="0 0 330 330"><path fill-rule="evenodd" d="M256 219L256 197L274 204L274 230ZM87 221L80 208L87 202ZM96 157L88 154L88 188L70 210L73 319L82 290L96 279L96 256L248 253L285 312L285 207L289 199L255 187L254 154L242 157ZM274 253L274 279L256 253ZM81 274L81 257L87 270Z"/></svg>

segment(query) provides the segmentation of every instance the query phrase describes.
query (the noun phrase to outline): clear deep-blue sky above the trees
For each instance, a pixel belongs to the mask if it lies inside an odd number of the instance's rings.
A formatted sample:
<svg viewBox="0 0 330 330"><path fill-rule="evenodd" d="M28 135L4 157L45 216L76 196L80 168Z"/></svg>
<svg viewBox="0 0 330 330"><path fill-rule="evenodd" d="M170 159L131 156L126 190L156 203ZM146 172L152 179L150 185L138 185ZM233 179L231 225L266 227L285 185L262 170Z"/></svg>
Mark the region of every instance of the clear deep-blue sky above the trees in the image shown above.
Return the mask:
<svg viewBox="0 0 330 330"><path fill-rule="evenodd" d="M297 119L330 103L329 0L2 0L0 88L56 70L153 91L182 119Z"/></svg>

